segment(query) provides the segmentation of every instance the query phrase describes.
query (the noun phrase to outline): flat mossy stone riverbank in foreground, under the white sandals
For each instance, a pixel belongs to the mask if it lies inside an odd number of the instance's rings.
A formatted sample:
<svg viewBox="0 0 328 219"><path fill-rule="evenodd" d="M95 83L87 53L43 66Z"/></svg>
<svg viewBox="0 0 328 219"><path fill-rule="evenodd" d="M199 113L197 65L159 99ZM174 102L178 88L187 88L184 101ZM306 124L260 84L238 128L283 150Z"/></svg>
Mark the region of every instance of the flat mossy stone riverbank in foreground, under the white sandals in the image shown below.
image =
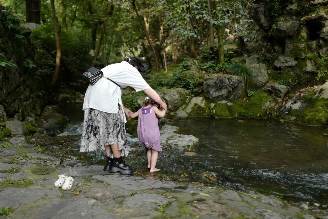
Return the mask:
<svg viewBox="0 0 328 219"><path fill-rule="evenodd" d="M102 165L64 162L20 142L0 146L0 214L7 218L322 218L322 211L278 197L239 192L152 175L109 174ZM58 174L74 177L71 191L53 187ZM156 175L155 175L156 176Z"/></svg>

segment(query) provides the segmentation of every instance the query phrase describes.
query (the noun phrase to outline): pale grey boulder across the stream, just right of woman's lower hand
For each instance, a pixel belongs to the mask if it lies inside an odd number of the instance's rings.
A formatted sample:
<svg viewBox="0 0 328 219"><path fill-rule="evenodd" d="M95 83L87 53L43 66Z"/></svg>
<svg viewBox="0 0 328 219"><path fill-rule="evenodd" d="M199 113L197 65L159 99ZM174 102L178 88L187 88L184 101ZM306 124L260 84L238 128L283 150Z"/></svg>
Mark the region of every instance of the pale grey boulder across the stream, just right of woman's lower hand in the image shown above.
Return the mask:
<svg viewBox="0 0 328 219"><path fill-rule="evenodd" d="M181 105L183 99L186 97L186 91L182 88L174 88L164 91L160 96L167 103L167 108L174 110Z"/></svg>

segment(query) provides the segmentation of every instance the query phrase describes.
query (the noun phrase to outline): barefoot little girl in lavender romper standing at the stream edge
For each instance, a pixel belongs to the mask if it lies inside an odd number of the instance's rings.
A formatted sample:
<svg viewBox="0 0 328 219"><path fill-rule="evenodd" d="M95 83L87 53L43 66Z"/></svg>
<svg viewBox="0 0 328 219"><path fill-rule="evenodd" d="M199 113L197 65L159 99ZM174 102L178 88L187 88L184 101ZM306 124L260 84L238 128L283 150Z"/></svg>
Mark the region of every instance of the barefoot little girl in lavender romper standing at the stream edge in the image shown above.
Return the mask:
<svg viewBox="0 0 328 219"><path fill-rule="evenodd" d="M148 169L150 172L159 171L155 168L158 152L162 151L161 136L159 134L158 119L163 118L165 110L160 111L159 104L153 99L145 98L146 106L135 113L129 113L131 118L139 116L138 119L138 139L147 147Z"/></svg>

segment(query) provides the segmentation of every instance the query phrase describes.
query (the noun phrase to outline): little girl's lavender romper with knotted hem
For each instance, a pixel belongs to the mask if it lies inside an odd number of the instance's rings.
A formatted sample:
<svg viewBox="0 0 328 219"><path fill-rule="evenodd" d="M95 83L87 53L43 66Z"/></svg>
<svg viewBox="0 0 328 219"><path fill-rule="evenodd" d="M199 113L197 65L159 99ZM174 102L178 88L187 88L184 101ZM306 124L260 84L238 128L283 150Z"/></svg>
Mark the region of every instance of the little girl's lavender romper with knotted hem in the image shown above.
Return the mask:
<svg viewBox="0 0 328 219"><path fill-rule="evenodd" d="M162 151L158 119L154 113L154 106L141 108L139 110L138 117L139 141L143 143L148 149Z"/></svg>

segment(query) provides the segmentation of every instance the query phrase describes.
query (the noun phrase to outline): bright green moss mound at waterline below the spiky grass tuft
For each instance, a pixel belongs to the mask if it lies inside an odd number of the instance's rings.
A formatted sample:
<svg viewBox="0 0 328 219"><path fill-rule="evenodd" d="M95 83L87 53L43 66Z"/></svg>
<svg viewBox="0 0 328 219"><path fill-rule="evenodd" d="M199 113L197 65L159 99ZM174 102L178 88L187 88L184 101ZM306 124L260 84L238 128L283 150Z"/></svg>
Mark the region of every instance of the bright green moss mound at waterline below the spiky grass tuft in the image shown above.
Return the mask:
<svg viewBox="0 0 328 219"><path fill-rule="evenodd" d="M262 109L262 105L265 104L270 97L265 93L255 94L248 98L245 102L240 100L233 101L231 108L232 115L238 117L250 117L250 118L263 118L268 116L268 111Z"/></svg>

